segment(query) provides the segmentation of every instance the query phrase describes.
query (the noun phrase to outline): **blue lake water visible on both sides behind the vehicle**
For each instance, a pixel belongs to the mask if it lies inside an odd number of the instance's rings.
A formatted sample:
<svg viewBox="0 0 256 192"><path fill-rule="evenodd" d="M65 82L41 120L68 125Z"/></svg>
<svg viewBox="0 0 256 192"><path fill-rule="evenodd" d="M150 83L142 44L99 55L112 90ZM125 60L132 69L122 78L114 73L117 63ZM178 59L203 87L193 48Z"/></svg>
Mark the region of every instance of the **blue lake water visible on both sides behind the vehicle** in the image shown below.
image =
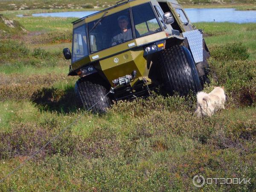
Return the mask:
<svg viewBox="0 0 256 192"><path fill-rule="evenodd" d="M77 17L81 18L96 11L80 12L55 12L55 13L34 13L34 17ZM205 8L185 9L192 23L195 22L234 22L234 23L256 23L256 11L236 11L232 8ZM17 15L22 17L23 15Z"/></svg>

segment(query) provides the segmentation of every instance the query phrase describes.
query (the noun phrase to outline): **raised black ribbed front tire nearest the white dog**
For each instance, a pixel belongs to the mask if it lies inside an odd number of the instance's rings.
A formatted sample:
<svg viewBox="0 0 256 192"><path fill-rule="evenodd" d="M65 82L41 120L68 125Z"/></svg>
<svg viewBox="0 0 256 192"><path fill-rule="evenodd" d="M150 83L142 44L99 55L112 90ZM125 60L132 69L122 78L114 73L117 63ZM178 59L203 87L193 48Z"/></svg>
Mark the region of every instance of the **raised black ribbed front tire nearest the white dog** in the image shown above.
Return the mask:
<svg viewBox="0 0 256 192"><path fill-rule="evenodd" d="M190 90L194 93L202 90L195 62L184 46L172 46L159 54L160 73L164 89L173 94L187 95Z"/></svg>

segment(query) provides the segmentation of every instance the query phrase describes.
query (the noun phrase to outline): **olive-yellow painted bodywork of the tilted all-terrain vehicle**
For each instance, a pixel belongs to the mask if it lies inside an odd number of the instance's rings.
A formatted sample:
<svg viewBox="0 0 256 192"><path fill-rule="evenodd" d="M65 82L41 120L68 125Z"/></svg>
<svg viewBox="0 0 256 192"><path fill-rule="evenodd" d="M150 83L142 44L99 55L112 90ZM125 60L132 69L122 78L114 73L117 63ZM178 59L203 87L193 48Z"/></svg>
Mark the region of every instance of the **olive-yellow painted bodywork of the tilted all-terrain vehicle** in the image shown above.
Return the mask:
<svg viewBox="0 0 256 192"><path fill-rule="evenodd" d="M111 9L106 9L105 11L99 12L95 15L83 18L81 21L74 23L73 28L76 28L85 23L89 23L91 21L97 21L103 15L104 17L106 17L108 15L146 2L151 2L153 6L158 5L158 2L168 3L168 6L171 9L172 14L175 17L177 23L179 24L181 31L189 30L188 26L184 26L184 24L180 21L180 18L175 11L176 8L182 9L182 7L177 3L176 0L135 0L123 4L121 3L120 6L116 6ZM189 22L189 24L191 23ZM113 79L117 79L119 77L131 74L133 70L136 70L137 79L135 79L131 83L131 85L133 85L137 80L139 80L139 78L140 80L142 78L148 79L148 72L150 67L147 67L146 57L143 56L143 46L163 39L169 39L169 42L171 42L171 39L174 38L176 40L180 39L181 41L183 41L183 38L180 36L169 35L171 35L170 32L168 33L167 30L163 30L162 32L157 32L151 35L146 35L140 38L132 39L131 41L118 44L108 49L103 49L101 51L94 52L72 63L72 70L79 69L82 66L90 63L94 65L94 67L96 67L98 71L102 71L104 73L106 79L108 79L109 83L112 86ZM150 81L150 79L148 79L148 81Z"/></svg>

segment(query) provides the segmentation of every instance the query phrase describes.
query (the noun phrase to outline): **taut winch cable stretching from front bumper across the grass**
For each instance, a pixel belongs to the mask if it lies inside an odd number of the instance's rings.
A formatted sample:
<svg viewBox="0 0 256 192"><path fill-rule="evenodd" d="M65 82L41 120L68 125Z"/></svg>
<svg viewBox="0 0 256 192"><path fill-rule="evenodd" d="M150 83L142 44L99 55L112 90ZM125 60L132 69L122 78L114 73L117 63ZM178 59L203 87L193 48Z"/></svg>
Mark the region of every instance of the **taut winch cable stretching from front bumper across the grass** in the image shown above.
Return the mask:
<svg viewBox="0 0 256 192"><path fill-rule="evenodd" d="M102 97L105 98L106 96L108 96L109 93L113 93L113 90L115 89L115 87L111 87L111 90ZM100 100L99 100L100 101ZM19 166L17 166L15 169L12 170L12 172L10 172L8 175L6 175L5 177L3 177L3 179L0 180L0 183L3 183L4 180L6 180L8 177L10 177L12 174L14 174L15 172L17 172L17 170L19 170L24 164L26 164L29 160L31 160L36 154L38 154L40 151L42 151L45 147L47 147L47 145L49 145L50 143L52 143L53 140L57 139L61 134L64 133L64 131L66 131L68 128L71 128L73 125L76 124L76 122L78 122L79 119L81 119L82 115L84 113L86 113L87 111L89 111L91 108L93 108L99 101L97 101L96 103L93 104L93 106L91 106L89 109L86 110L86 108L84 108L86 111L84 111L83 113L80 114L79 117L77 117L72 123L70 123L69 125L67 125L67 127L65 127L64 129L62 129L55 137L52 137L52 139L50 139L43 147L41 147L38 151L36 151L35 153L33 153L29 158L27 158L25 161L23 161L23 163L20 163ZM85 107L85 106L84 106Z"/></svg>

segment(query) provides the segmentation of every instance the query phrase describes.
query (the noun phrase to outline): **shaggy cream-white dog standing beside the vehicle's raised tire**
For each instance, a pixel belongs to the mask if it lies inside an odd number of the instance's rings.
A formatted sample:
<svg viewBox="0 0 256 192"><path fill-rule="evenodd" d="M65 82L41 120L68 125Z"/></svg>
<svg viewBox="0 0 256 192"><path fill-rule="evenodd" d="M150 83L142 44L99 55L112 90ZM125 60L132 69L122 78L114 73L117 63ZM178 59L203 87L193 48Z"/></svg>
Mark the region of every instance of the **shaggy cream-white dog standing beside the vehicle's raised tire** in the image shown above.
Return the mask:
<svg viewBox="0 0 256 192"><path fill-rule="evenodd" d="M209 94L201 91L196 96L197 109L195 113L198 117L212 116L218 109L224 109L226 101L224 87L215 87Z"/></svg>

